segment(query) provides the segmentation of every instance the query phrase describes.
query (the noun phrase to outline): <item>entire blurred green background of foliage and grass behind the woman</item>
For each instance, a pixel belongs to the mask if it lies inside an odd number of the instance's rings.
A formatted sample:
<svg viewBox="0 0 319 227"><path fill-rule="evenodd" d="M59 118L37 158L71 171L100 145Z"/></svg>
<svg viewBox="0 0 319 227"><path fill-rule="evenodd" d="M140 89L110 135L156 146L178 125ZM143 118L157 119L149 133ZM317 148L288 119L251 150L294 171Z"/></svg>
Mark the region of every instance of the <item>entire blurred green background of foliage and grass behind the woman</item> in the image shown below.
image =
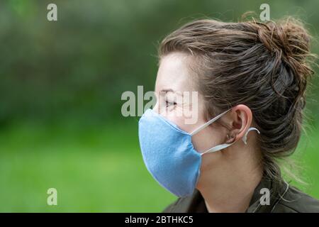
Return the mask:
<svg viewBox="0 0 319 227"><path fill-rule="evenodd" d="M47 4L58 21L47 21ZM152 90L157 45L194 18L237 21L268 3L298 16L318 40L319 1L0 1L0 211L162 211L175 197L140 155L138 117L121 94ZM318 41L313 51L319 53ZM318 71L318 70L317 70ZM318 78L294 158L319 199ZM47 189L57 189L57 206Z"/></svg>

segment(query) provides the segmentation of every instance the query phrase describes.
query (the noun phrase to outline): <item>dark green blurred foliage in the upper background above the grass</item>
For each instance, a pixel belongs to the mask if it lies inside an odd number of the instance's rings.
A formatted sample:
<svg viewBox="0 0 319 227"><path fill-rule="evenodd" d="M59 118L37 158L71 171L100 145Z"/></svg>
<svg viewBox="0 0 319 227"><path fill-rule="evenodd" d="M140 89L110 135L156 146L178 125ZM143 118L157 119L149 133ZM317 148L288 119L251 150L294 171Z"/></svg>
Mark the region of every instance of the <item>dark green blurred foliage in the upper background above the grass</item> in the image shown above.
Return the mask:
<svg viewBox="0 0 319 227"><path fill-rule="evenodd" d="M47 21L47 4L58 21ZM121 119L121 94L152 90L157 43L204 16L237 21L262 1L23 1L0 3L0 125L15 119ZM318 1L269 1L271 17L307 16L318 33ZM315 44L318 52L318 45ZM318 79L315 80L318 84ZM318 93L317 93L318 94ZM311 104L310 104L311 106ZM314 112L318 105L313 105Z"/></svg>

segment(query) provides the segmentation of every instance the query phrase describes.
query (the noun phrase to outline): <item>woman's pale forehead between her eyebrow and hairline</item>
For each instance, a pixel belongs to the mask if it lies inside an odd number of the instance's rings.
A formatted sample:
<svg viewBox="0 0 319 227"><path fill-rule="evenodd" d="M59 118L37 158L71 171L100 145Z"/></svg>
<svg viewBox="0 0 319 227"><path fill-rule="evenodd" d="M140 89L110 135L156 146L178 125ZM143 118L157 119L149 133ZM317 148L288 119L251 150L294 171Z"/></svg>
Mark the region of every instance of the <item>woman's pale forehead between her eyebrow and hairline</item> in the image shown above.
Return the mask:
<svg viewBox="0 0 319 227"><path fill-rule="evenodd" d="M195 73L189 69L192 57L173 52L162 57L159 63L155 92L172 89L177 92L193 91Z"/></svg>

